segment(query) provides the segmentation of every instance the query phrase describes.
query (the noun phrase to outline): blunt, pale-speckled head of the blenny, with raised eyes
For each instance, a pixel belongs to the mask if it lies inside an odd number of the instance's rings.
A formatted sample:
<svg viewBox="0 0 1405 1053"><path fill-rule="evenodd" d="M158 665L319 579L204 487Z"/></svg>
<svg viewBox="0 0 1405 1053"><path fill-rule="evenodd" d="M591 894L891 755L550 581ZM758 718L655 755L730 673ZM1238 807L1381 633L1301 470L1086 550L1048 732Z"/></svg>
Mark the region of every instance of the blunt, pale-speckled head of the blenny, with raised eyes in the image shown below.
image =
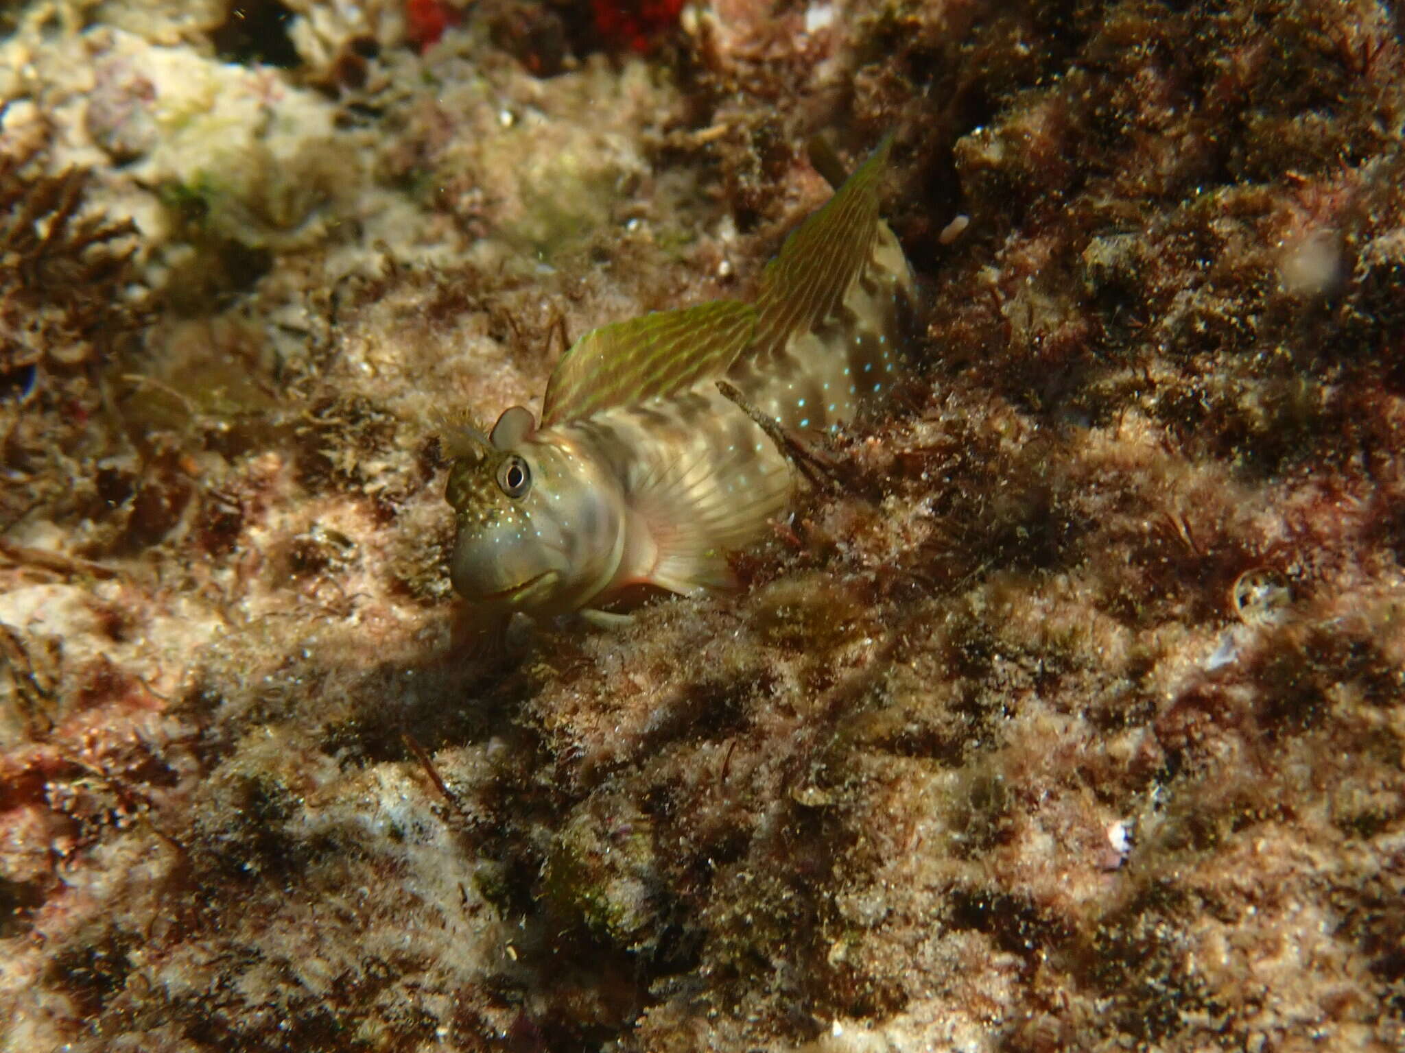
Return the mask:
<svg viewBox="0 0 1405 1053"><path fill-rule="evenodd" d="M481 616L563 614L608 584L624 549L624 498L603 466L566 437L537 432L521 406L489 437L465 430L454 445L450 577Z"/></svg>

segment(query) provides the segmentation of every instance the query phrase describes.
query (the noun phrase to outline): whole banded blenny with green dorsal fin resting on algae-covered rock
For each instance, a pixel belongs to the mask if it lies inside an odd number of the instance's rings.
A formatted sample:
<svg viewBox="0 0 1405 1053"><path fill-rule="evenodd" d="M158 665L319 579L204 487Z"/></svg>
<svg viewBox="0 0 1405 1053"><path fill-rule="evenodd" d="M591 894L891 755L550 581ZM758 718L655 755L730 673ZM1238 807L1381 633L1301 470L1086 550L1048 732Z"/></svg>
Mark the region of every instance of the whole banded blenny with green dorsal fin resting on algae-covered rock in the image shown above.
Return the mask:
<svg viewBox="0 0 1405 1053"><path fill-rule="evenodd" d="M454 431L450 578L479 618L610 619L641 590L735 587L728 552L802 484L770 435L836 431L901 369L916 298L880 215L891 146L785 239L750 303L594 329L552 371L540 421L513 406L486 435Z"/></svg>

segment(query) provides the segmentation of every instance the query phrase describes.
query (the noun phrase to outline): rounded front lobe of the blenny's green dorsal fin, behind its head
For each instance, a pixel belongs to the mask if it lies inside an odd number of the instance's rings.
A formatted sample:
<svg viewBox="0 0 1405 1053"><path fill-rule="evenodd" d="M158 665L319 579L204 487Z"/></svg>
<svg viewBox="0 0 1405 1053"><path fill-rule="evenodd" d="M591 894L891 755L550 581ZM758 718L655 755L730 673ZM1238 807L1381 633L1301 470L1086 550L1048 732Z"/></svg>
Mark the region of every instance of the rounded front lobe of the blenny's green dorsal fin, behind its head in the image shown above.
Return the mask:
<svg viewBox="0 0 1405 1053"><path fill-rule="evenodd" d="M542 427L634 406L719 378L756 329L756 310L712 300L594 329L576 341L547 382Z"/></svg>

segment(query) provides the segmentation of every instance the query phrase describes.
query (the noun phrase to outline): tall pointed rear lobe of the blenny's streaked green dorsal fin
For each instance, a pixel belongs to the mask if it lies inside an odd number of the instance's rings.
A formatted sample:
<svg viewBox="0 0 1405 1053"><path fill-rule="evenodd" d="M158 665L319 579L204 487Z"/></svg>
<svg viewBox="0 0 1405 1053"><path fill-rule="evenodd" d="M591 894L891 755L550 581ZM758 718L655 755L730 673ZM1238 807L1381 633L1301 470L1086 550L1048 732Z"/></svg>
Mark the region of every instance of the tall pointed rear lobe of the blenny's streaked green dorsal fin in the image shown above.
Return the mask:
<svg viewBox="0 0 1405 1053"><path fill-rule="evenodd" d="M794 333L828 319L864 268L878 232L878 187L891 147L888 135L767 264L756 298L757 358L777 354Z"/></svg>

